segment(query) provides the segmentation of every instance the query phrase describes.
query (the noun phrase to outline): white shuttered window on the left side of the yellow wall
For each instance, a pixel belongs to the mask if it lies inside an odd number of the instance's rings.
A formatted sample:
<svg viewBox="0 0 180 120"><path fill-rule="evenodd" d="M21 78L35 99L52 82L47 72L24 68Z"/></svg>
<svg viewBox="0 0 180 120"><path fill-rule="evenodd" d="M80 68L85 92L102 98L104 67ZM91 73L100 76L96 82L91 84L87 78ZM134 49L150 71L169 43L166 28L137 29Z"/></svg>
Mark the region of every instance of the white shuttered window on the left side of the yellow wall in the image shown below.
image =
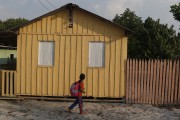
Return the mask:
<svg viewBox="0 0 180 120"><path fill-rule="evenodd" d="M38 65L54 65L54 42L39 42Z"/></svg>

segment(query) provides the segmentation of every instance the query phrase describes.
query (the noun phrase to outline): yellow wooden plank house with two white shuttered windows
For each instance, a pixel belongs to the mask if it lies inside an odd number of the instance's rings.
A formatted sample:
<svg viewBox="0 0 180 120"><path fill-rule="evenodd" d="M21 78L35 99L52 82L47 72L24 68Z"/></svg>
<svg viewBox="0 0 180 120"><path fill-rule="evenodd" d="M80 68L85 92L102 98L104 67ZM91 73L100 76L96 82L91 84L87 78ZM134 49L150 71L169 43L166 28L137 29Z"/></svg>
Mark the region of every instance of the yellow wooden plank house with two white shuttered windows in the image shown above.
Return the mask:
<svg viewBox="0 0 180 120"><path fill-rule="evenodd" d="M15 95L70 96L70 85L84 73L84 96L125 96L125 27L70 3L14 31Z"/></svg>

